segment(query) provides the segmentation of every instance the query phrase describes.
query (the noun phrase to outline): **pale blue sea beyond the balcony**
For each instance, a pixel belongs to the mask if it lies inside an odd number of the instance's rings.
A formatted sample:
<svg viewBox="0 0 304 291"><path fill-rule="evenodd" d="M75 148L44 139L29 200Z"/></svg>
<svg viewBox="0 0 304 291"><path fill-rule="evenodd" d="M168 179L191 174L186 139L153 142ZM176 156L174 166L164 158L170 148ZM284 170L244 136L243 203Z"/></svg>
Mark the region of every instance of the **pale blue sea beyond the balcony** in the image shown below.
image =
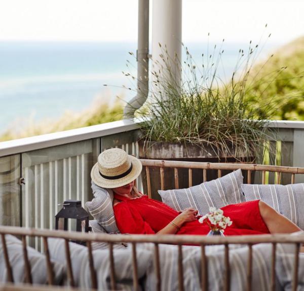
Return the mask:
<svg viewBox="0 0 304 291"><path fill-rule="evenodd" d="M224 50L218 74L229 79L240 49L248 50L249 44L184 46L197 67L203 59L211 63L209 55ZM259 58L269 55L276 46L268 43ZM127 102L135 93L124 86L136 88L136 83L124 75L136 77L137 64L130 53L136 55L135 42L0 41L0 134L28 120L56 120L66 111L79 113L96 99L108 104L118 98ZM183 49L182 61L185 59Z"/></svg>

